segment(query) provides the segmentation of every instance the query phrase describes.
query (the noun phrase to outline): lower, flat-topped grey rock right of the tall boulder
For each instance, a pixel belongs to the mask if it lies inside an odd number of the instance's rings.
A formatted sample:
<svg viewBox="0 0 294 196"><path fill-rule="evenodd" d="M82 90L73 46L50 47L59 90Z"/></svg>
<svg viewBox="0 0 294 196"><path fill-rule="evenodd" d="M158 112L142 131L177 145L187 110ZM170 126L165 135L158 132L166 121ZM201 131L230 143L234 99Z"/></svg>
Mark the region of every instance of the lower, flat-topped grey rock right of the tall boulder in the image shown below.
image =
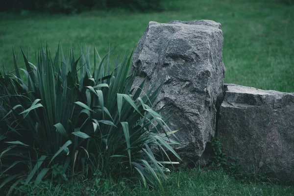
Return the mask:
<svg viewBox="0 0 294 196"><path fill-rule="evenodd" d="M217 137L224 151L254 168L294 183L294 93L224 85Z"/></svg>

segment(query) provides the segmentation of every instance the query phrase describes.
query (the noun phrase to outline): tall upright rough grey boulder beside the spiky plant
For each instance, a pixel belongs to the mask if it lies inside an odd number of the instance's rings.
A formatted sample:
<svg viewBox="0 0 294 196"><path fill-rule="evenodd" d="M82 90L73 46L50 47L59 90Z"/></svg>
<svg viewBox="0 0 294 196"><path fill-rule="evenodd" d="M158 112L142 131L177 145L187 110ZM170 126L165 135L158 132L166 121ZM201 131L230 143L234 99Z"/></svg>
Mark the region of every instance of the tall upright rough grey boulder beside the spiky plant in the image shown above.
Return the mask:
<svg viewBox="0 0 294 196"><path fill-rule="evenodd" d="M155 108L170 106L169 126L185 145L176 151L196 163L215 135L216 105L222 97L221 24L214 21L150 22L133 55L133 86L164 83Z"/></svg>

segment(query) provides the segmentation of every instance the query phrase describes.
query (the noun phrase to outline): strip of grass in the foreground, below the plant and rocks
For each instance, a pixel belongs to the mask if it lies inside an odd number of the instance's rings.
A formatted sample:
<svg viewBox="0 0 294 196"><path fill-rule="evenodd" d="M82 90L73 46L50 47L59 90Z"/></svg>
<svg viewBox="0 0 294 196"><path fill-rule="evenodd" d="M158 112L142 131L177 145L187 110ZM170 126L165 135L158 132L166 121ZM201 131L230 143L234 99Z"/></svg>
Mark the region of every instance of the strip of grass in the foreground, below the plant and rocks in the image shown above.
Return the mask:
<svg viewBox="0 0 294 196"><path fill-rule="evenodd" d="M178 183L179 182L179 183ZM20 185L18 187L22 188ZM240 183L222 170L193 169L172 172L171 178L163 183L165 192L157 187L144 188L124 179L84 179L68 185L53 186L43 182L35 189L38 196L293 196L294 187L281 187L266 183ZM27 195L32 188L26 188ZM23 189L24 190L24 189ZM23 192L24 193L24 192Z"/></svg>

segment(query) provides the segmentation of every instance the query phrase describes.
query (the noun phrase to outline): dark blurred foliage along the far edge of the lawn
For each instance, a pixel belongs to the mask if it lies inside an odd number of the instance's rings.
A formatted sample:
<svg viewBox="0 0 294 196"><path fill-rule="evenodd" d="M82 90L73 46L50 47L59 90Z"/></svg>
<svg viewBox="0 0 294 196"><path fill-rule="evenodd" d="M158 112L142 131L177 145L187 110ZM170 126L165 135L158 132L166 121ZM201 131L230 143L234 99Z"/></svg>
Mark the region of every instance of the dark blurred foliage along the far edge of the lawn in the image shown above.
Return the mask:
<svg viewBox="0 0 294 196"><path fill-rule="evenodd" d="M125 8L141 12L162 10L161 0L4 0L0 11L31 10L77 13L93 9Z"/></svg>

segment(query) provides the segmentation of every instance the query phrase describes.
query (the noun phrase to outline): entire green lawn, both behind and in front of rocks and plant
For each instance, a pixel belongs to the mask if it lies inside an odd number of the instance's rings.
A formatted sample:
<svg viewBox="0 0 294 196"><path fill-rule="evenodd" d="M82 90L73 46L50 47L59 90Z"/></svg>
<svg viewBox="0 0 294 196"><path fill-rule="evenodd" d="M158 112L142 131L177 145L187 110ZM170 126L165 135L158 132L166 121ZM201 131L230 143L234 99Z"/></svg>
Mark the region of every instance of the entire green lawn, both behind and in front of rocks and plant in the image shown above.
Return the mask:
<svg viewBox="0 0 294 196"><path fill-rule="evenodd" d="M159 13L93 11L72 16L0 13L0 63L12 71L12 47L21 58L20 45L25 51L28 46L30 60L35 63L35 50L40 48L41 39L49 44L51 52L59 42L64 50L72 44L75 51L86 43L91 46L91 59L93 46L101 55L115 46L117 51L130 53L149 21L208 19L222 25L226 83L294 92L294 5L285 5L279 0L167 0L166 7L167 11ZM222 171L199 169L180 175L172 172L172 178L163 184L165 193L157 187L146 189L123 181L83 179L73 184L66 189L66 185L41 184L40 187L45 188L38 195L79 195L81 191L90 195L91 189L98 191L93 195L294 195L293 186L241 183Z"/></svg>

